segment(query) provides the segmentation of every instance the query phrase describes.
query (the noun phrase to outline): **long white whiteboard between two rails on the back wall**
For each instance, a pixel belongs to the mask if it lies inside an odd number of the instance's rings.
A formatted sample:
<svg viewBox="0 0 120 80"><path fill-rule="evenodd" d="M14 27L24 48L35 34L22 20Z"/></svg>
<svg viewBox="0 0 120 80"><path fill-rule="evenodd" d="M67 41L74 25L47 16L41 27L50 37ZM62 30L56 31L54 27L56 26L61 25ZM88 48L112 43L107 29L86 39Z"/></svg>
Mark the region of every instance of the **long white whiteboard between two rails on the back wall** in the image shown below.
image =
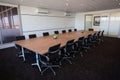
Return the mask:
<svg viewBox="0 0 120 80"><path fill-rule="evenodd" d="M74 17L21 15L23 31L59 29L75 26Z"/></svg>

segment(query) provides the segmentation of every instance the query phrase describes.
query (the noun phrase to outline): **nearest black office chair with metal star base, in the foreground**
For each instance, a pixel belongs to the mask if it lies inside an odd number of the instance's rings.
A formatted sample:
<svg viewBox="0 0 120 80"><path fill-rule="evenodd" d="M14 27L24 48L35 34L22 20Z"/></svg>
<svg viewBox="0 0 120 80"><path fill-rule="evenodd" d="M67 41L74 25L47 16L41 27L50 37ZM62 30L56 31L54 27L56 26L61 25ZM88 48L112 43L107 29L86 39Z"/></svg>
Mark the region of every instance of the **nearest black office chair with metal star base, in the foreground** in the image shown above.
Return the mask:
<svg viewBox="0 0 120 80"><path fill-rule="evenodd" d="M43 74L47 69L50 69L53 72L53 74L56 75L55 71L53 70L53 67L60 67L60 55L60 44L50 47L48 53L46 55L43 55L43 57L45 57L46 59L42 60L42 64L46 68L41 72L41 74Z"/></svg>

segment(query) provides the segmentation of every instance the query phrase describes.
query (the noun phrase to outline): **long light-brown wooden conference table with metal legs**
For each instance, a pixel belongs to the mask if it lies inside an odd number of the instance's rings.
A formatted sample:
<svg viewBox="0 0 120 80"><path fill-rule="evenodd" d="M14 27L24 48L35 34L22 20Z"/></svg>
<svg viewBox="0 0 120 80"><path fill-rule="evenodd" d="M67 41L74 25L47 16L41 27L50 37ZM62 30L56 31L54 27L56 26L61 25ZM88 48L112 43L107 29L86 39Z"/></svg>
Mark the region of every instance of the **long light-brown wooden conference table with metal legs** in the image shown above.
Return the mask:
<svg viewBox="0 0 120 80"><path fill-rule="evenodd" d="M27 40L20 40L16 41L15 44L21 46L22 48L22 56L25 61L25 55L24 55L24 48L35 52L36 54L36 62L32 65L37 65L39 70L41 71L41 67L39 64L40 57L39 55L44 55L48 52L49 47L54 46L56 44L61 44L61 47L66 45L66 42L68 40L74 39L75 41L78 40L80 37L87 37L89 34L94 34L96 31L75 31L75 32L67 32L67 33L61 33L57 35L57 38L53 38L52 35L50 36L44 36L44 37L37 37ZM39 58L38 58L39 57Z"/></svg>

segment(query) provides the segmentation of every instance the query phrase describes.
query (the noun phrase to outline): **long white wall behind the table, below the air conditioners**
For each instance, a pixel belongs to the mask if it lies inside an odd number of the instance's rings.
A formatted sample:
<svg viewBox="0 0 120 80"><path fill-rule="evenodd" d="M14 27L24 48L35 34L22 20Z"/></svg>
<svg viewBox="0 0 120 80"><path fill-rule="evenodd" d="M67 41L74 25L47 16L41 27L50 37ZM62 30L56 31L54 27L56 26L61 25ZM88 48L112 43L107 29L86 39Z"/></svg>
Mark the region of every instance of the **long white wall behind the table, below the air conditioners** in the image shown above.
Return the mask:
<svg viewBox="0 0 120 80"><path fill-rule="evenodd" d="M21 6L21 21L23 34L28 38L29 34L36 33L42 36L48 31L53 34L54 30L70 29L75 27L75 15L65 16L65 12L48 10L48 14L38 14L34 7Z"/></svg>

